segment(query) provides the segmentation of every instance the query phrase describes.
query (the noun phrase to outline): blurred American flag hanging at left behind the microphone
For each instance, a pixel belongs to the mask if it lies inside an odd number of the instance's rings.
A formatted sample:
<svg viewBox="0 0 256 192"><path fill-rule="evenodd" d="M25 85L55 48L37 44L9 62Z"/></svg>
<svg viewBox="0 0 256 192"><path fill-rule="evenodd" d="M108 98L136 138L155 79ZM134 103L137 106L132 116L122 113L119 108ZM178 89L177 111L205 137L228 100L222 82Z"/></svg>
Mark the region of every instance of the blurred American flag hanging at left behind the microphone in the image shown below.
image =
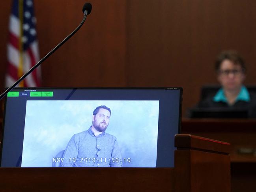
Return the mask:
<svg viewBox="0 0 256 192"><path fill-rule="evenodd" d="M33 0L13 0L9 19L6 87L16 82L38 61L39 50ZM19 86L38 87L40 82L41 69L39 66Z"/></svg>

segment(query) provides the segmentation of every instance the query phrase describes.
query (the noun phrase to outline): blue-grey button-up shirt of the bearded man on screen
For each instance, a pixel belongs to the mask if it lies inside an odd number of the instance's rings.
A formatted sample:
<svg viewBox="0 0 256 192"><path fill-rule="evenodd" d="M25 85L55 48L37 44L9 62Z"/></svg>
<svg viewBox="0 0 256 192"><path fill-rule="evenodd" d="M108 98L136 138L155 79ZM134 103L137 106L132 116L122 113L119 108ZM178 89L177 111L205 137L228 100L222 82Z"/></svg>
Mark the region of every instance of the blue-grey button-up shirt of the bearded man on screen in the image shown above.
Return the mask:
<svg viewBox="0 0 256 192"><path fill-rule="evenodd" d="M116 137L106 132L96 137L91 127L72 136L63 157L62 167L122 167Z"/></svg>

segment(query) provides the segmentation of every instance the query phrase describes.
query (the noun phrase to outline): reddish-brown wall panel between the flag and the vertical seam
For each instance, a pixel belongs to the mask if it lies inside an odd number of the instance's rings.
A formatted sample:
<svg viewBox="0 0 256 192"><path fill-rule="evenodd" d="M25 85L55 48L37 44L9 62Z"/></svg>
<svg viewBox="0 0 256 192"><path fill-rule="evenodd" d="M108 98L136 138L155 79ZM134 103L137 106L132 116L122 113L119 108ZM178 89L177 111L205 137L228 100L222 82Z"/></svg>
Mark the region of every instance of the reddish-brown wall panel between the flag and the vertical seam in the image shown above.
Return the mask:
<svg viewBox="0 0 256 192"><path fill-rule="evenodd" d="M42 66L43 86L125 86L125 1L91 1L84 26ZM41 55L80 23L84 0L36 1ZM47 14L46 14L47 13Z"/></svg>

